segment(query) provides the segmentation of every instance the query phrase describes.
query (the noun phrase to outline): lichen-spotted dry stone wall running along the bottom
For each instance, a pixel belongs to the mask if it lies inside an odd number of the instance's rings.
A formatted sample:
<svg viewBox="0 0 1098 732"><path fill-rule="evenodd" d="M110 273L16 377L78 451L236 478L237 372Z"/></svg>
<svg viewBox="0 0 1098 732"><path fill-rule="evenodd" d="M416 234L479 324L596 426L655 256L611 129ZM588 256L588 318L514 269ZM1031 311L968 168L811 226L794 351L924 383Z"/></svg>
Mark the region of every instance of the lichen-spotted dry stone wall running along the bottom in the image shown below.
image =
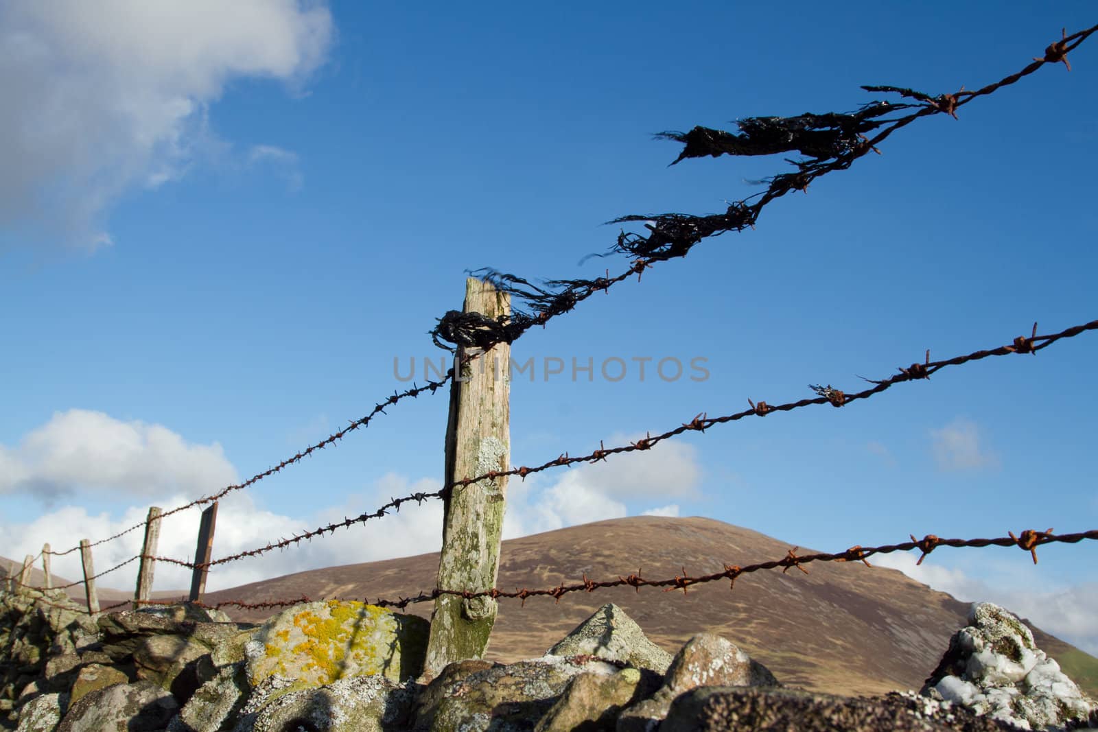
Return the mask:
<svg viewBox="0 0 1098 732"><path fill-rule="evenodd" d="M540 658L433 675L428 623L361 603L299 605L262 624L187 604L93 620L59 592L0 593L0 728L991 732L1098 721L1024 630L976 606L921 695L852 699L786 688L719 635L671 656L614 605Z"/></svg>

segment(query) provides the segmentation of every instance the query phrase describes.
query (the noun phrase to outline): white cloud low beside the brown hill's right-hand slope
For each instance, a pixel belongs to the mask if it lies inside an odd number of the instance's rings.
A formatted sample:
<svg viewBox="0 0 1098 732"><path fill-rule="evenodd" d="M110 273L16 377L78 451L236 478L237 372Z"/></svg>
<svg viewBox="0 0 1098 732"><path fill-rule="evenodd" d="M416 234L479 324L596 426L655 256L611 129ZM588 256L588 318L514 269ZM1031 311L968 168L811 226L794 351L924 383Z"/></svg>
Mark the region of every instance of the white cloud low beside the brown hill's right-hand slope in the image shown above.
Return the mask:
<svg viewBox="0 0 1098 732"><path fill-rule="evenodd" d="M985 581L932 562L916 566L912 553L878 554L873 564L899 570L917 582L949 593L965 603L995 603L1032 620L1041 630L1098 655L1098 583L1053 586L1021 578L1017 573Z"/></svg>

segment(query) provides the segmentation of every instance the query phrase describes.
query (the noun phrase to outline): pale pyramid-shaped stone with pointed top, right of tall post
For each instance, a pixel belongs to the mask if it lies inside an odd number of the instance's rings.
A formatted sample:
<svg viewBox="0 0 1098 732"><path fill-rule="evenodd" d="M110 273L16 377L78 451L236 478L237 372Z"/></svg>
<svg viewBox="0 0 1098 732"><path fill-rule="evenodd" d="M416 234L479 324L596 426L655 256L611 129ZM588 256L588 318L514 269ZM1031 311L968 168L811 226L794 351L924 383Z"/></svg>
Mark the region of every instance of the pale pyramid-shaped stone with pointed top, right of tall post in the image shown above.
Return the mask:
<svg viewBox="0 0 1098 732"><path fill-rule="evenodd" d="M625 610L609 603L576 626L548 655L593 655L619 661L636 668L663 674L671 665L671 654L652 643Z"/></svg>

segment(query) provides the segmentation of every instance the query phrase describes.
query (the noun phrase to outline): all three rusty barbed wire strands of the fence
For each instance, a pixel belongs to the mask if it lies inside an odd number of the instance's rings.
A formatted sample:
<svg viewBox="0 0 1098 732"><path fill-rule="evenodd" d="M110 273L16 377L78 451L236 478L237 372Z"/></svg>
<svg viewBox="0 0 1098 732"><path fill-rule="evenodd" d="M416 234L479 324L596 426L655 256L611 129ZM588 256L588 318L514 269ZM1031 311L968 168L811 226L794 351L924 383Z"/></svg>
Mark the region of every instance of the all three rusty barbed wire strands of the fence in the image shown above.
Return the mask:
<svg viewBox="0 0 1098 732"><path fill-rule="evenodd" d="M91 601L94 594L93 582L94 579L116 572L133 562L141 562L143 571L146 565L150 567L156 562L168 563L192 570L197 574L201 573L204 579L205 573L209 572L211 567L222 566L232 562L258 556L276 549L289 549L300 544L301 541L311 541L314 538L323 538L325 534L330 536L338 529L350 528L358 523L366 523L369 520L380 519L390 515L392 511L399 511L402 505L411 502L415 502L416 505L421 505L429 499L448 500L456 492L462 491L468 486L484 480L496 480L513 475L517 475L525 480L527 475L554 468L562 468L576 463L594 463L605 460L612 454L649 450L663 440L671 439L687 431L705 432L709 428L731 421L738 421L749 416L764 417L773 413L789 412L807 407L809 405L830 404L833 407L843 407L859 399L865 399L879 394L896 384L929 379L932 374L946 367L962 365L997 356L1035 354L1038 351L1043 350L1063 339L1074 338L1084 333L1098 329L1098 319L1096 319L1065 328L1058 333L1038 335L1038 326L1034 323L1032 331L1029 336L1018 336L1013 338L1009 345L976 350L967 354L941 361L931 361L930 351L927 350L921 362L917 361L911 363L909 367L899 368L898 373L895 373L892 376L878 380L864 379L864 381L871 384L871 386L861 391L844 391L833 387L830 384L826 386L809 384L809 388L816 394L814 398L802 398L783 404L769 404L762 399L755 402L752 398L748 398L747 401L750 408L741 412L719 417L708 417L706 413L702 413L694 416L688 421L682 423L679 426L658 435L652 436L651 432L646 432L645 438L629 442L628 444L606 448L604 441L600 441L598 449L582 455L570 457L565 452L556 459L548 460L534 466L523 465L511 470L488 471L480 475L453 480L445 484L439 491L430 493L416 492L399 498L392 498L389 503L378 507L373 511L366 511L356 517L345 517L343 521L329 522L325 526L320 526L315 529L303 531L289 538L271 540L265 545L221 556L216 560L209 559L208 556L204 561L202 561L198 559L199 555L197 554L197 560L194 562L190 562L176 558L159 556L156 555L155 551L143 551L142 553L131 556L108 570L98 573L88 571L91 566L91 548L115 541L141 528L145 528L146 530L146 548L148 548L149 531L155 522L163 521L165 518L181 514L190 508L204 505L216 505L216 502L220 498L232 492L250 487L259 481L279 473L290 465L301 462L304 458L312 455L317 450L338 444L346 435L361 427L366 427L377 415L386 414L386 407L395 406L408 398L415 398L425 392L434 394L438 388L447 385L448 383L452 388L455 382L459 381L455 378L457 370L459 368L463 368L472 359L475 359L478 356L489 351L497 344L514 342L534 326L545 326L551 318L574 309L581 302L590 297L592 294L596 292L608 292L612 286L629 279L632 274L636 274L639 281L646 269L654 267L659 262L666 261L669 259L685 257L692 248L699 244L703 239L728 232L741 232L749 226L753 227L758 222L763 207L770 202L784 196L792 191L805 190L809 183L824 174L849 168L856 159L867 155L870 151L879 153L877 149L878 145L887 139L893 133L911 124L916 120L935 114L949 114L956 117L956 111L964 104L967 104L979 97L991 94L1006 86L1013 85L1020 79L1033 74L1045 64L1064 64L1065 67L1071 70L1071 64L1067 60L1067 53L1078 47L1078 45L1080 45L1096 31L1098 31L1098 25L1071 35L1068 35L1065 30L1062 33L1061 40L1050 44L1045 48L1042 57L1034 58L1031 64L1027 65L1020 71L1009 75L999 81L987 85L986 87L975 91L966 91L962 88L954 93L931 95L903 87L863 87L863 89L870 92L895 93L901 99L914 101L899 103L884 101L871 102L852 113L803 114L794 117L750 117L738 123L739 134L710 129L707 127L695 127L688 133L661 133L659 137L672 139L683 145L682 153L672 162L672 165L679 164L687 158L697 157L719 157L721 155L753 156L793 151L797 151L803 156L806 156L807 159L796 161L789 160L789 162L796 168L795 172L786 172L774 176L769 179L766 191L730 204L726 212L721 214L712 216L693 216L677 213L658 215L630 214L615 218L610 223L643 223L643 226L648 229L647 235L626 233L623 230L618 235L616 244L607 252L593 255L597 257L626 256L632 258L628 269L615 277L610 277L607 270L606 277L596 278L594 280L548 280L541 285L537 285L533 284L525 278L498 272L492 269L473 271L473 274L483 277L485 281L490 282L497 290L525 302L528 311L519 311L508 316L501 316L497 318L489 318L474 312L449 311L441 318L438 318L437 325L429 331L432 339L440 348L459 353L455 368L450 369L442 379L428 381L423 386L413 384L412 388L407 388L403 392L394 392L393 395L378 402L373 409L367 415L358 419L350 420L347 427L333 432L318 442L315 442L304 450L301 450L280 461L276 465L253 475L243 483L225 486L212 495L202 496L188 504L177 506L167 511L158 513L155 518L150 513L150 517L146 519L146 521L135 523L113 536L94 542L85 540L80 544L64 551L52 551L49 545L46 544L37 555L26 556L23 562L22 570L18 575L14 571L9 573L8 579L10 587L12 590L54 589L64 592L77 586L85 586L86 588L91 589L88 595L88 611L92 613L94 613L96 609L100 612L107 612L124 606L138 607L142 605L160 604L164 601L163 599L153 600L147 596L143 596L142 592L138 589L137 595L133 599L126 599L102 608L93 608ZM899 117L888 116L901 111L909 111L909 113ZM870 136L871 134L872 137ZM397 597L395 599L378 598L373 601L373 604L381 607L405 608L412 604L436 600L445 595L453 595L466 599L482 596L491 597L492 599L515 598L522 600L523 605L525 605L526 599L530 597L547 596L559 601L561 597L570 593L591 593L601 588L617 587L623 585L631 586L638 592L640 587L661 587L664 592L682 589L686 593L691 586L720 579L728 579L730 582L730 586L735 588L736 579L741 575L762 570L776 568L787 572L789 568L794 567L807 573L808 570L806 570L803 565L811 562L860 561L865 564L870 564L867 561L869 558L875 554L919 550L921 552L921 556L919 558L918 563L921 564L923 559L926 559L930 552L939 547L1018 547L1030 552L1033 562L1037 563L1038 547L1053 542L1078 543L1083 540L1094 539L1098 539L1098 530L1055 534L1051 528L1043 531L1026 529L1020 531L1018 536L1015 536L1012 532L1008 532L1007 537L994 539L941 539L934 534L927 534L922 539L916 539L915 536L911 534L909 542L885 544L879 547L853 545L850 549L837 553L798 555L796 552L799 548L793 548L781 559L742 566L725 564L722 572L701 576L690 576L686 574L685 568L683 568L681 575L676 574L674 577L661 579L643 578L639 576L639 572L637 574L618 575L617 578L614 579L597 582L592 581L584 575L581 582L574 584L561 583L560 585L553 587L537 589L520 588L515 592L506 592L497 587L484 590L436 587L432 590L422 590L417 595L410 597ZM155 540L153 545L155 545ZM46 564L47 586L36 587L29 582L30 567L38 559L47 561L49 556L64 556L76 551L81 551L87 556L83 579L52 587L49 582L48 564ZM138 578L138 586L139 585L141 579ZM43 601L47 605L56 605L45 597L40 597L37 599L38 601ZM298 598L268 600L262 603L247 603L240 599L225 600L214 605L204 605L201 603L199 597L193 596L192 592L192 597L190 597L190 599L195 604L208 608L220 609L222 607L238 607L242 609L273 609L295 605L302 601L309 601L310 598L302 596ZM367 599L367 601L369 600ZM94 605L98 606L98 601Z"/></svg>

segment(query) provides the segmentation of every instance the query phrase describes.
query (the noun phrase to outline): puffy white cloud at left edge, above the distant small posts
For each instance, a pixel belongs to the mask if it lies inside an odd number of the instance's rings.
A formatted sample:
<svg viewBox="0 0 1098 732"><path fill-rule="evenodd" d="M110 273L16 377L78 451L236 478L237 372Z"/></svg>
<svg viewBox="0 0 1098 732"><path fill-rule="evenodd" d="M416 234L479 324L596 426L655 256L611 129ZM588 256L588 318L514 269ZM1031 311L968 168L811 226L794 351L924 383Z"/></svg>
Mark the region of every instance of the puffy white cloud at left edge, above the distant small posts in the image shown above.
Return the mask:
<svg viewBox="0 0 1098 732"><path fill-rule="evenodd" d="M189 443L161 425L120 421L101 412L55 413L18 446L0 444L0 494L47 500L77 491L197 497L235 478L219 443Z"/></svg>

